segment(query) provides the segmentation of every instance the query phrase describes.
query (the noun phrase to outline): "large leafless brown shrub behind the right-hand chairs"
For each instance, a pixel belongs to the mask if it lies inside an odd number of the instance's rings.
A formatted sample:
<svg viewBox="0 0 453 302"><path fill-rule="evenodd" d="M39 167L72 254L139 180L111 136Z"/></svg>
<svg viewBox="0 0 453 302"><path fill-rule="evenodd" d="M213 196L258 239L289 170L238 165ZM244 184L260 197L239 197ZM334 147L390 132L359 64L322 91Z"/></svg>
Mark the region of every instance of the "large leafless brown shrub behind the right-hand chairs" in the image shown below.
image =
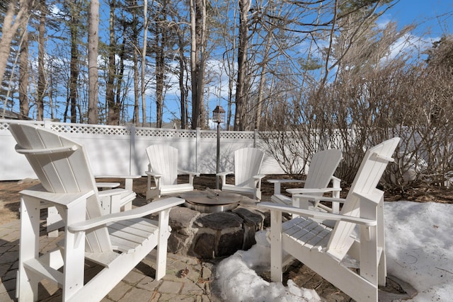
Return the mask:
<svg viewBox="0 0 453 302"><path fill-rule="evenodd" d="M275 122L279 130L272 135L262 133L263 141L274 154L284 150L275 157L287 173L302 173L316 151L342 149L336 176L351 182L366 149L401 137L382 183L401 190L420 182L445 185L453 170L452 88L449 68L424 62L408 66L394 60L366 73L343 74L279 112L286 118ZM295 156L302 165L294 163Z"/></svg>

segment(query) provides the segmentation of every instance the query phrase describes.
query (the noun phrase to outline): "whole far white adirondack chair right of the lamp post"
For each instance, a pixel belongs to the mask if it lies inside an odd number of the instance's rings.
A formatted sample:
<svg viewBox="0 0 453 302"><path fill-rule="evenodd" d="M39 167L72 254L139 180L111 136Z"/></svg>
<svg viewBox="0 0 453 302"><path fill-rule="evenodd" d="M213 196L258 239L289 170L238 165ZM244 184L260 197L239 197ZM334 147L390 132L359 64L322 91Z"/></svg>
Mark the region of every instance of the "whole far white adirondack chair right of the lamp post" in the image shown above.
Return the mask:
<svg viewBox="0 0 453 302"><path fill-rule="evenodd" d="M265 175L260 174L264 152L256 148L243 148L234 151L234 172L217 173L222 180L222 191L240 194L253 194L253 199L261 200L261 180ZM226 175L234 174L234 185L226 183Z"/></svg>

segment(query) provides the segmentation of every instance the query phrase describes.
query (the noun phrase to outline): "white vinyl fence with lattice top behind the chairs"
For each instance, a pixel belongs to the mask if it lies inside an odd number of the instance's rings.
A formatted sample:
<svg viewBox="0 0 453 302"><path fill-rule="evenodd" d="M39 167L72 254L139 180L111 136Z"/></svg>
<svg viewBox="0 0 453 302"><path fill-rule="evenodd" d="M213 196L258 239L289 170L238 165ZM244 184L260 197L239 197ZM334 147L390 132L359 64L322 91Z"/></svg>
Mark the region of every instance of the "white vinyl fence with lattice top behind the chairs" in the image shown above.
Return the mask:
<svg viewBox="0 0 453 302"><path fill-rule="evenodd" d="M0 120L0 180L36 178L25 156L14 149L16 141L8 130L8 124L15 122L39 124L84 144L94 175L144 175L148 169L145 149L151 144L169 144L178 148L181 170L202 174L216 172L217 131ZM222 131L220 171L234 169L233 152L236 149L253 146L260 148L258 132ZM284 172L274 158L265 156L261 173Z"/></svg>

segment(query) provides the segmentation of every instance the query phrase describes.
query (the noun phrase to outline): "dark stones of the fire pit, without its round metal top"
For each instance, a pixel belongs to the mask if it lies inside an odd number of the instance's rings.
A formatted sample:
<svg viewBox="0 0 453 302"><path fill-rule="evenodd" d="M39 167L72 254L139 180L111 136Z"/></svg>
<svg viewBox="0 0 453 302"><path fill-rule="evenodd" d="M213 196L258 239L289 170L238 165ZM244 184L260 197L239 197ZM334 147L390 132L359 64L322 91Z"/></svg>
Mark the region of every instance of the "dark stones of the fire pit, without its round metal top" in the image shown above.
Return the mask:
<svg viewBox="0 0 453 302"><path fill-rule="evenodd" d="M213 259L251 248L256 243L256 231L270 226L270 214L258 209L253 199L239 196L238 207L231 211L200 213L188 207L171 209L168 251Z"/></svg>

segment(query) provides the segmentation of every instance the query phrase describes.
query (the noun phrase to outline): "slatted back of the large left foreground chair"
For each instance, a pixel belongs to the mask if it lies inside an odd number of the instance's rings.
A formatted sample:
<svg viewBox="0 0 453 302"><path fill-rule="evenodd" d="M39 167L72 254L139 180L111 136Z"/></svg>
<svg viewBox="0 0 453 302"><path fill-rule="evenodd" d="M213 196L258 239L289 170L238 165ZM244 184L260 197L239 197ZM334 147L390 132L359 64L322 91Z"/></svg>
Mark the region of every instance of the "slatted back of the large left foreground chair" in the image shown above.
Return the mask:
<svg viewBox="0 0 453 302"><path fill-rule="evenodd" d="M9 129L17 141L16 151L25 155L45 190L52 193L93 191L95 194L86 202L86 218L101 216L98 190L84 146L39 126L10 124ZM107 228L86 233L87 252L108 250L112 247Z"/></svg>

